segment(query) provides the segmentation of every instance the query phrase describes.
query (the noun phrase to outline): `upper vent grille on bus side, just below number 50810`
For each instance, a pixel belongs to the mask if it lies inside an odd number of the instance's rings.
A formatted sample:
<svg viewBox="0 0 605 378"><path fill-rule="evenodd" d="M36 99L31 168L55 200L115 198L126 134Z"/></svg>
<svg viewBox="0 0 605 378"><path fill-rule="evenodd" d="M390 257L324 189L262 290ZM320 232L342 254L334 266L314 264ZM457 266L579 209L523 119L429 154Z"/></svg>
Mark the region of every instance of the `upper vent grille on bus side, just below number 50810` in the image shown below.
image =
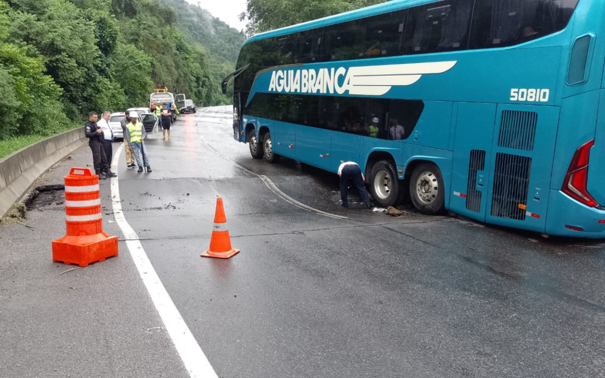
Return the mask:
<svg viewBox="0 0 605 378"><path fill-rule="evenodd" d="M538 123L538 113L535 111L502 111L502 123L498 145L500 147L534 149L535 126Z"/></svg>

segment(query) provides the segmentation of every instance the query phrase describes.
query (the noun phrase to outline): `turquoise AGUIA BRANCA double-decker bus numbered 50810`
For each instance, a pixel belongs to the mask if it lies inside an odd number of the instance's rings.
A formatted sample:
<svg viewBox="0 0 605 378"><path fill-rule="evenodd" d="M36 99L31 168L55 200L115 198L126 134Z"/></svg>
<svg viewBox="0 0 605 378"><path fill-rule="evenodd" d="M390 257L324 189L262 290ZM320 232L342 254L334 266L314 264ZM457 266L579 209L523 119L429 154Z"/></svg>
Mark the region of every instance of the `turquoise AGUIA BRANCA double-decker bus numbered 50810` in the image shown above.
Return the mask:
<svg viewBox="0 0 605 378"><path fill-rule="evenodd" d="M379 206L601 238L604 19L602 0L395 0L258 34L234 137L270 162L356 161Z"/></svg>

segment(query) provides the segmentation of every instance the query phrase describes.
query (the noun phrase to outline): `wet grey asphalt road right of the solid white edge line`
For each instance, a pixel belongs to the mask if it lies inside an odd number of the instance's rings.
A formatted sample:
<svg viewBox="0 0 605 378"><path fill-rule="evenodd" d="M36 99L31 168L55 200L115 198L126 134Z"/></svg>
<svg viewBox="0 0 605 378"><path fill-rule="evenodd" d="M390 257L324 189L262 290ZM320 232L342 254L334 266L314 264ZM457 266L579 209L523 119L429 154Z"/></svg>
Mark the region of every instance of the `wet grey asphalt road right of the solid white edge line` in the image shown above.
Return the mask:
<svg viewBox="0 0 605 378"><path fill-rule="evenodd" d="M605 244L341 209L336 175L253 160L230 108L146 143L125 217L219 377L605 376ZM217 196L228 260L199 256Z"/></svg>

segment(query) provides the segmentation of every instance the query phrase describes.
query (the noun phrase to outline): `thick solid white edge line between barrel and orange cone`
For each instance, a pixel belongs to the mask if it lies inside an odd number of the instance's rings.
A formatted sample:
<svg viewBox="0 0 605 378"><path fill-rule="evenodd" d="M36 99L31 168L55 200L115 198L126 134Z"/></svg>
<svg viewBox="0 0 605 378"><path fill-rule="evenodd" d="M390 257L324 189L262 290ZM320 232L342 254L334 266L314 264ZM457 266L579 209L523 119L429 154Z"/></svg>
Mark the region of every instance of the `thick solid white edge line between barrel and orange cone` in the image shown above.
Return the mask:
<svg viewBox="0 0 605 378"><path fill-rule="evenodd" d="M117 160L124 148L124 143L116 151L113 164L114 171L117 169ZM122 201L120 200L120 187L117 177L111 178L111 202L113 204L116 223L122 230L126 239L126 246L132 257L132 261L139 270L139 275L151 296L155 309L160 314L160 318L166 326L166 331L170 335L178 355L183 360L186 370L191 378L218 378L217 373L210 365L208 358L201 350L200 345L195 341L195 337L185 324L183 317L178 312L177 307L172 302L166 288L160 281L160 277L151 265L151 261L139 240L139 235L132 229L122 211Z"/></svg>

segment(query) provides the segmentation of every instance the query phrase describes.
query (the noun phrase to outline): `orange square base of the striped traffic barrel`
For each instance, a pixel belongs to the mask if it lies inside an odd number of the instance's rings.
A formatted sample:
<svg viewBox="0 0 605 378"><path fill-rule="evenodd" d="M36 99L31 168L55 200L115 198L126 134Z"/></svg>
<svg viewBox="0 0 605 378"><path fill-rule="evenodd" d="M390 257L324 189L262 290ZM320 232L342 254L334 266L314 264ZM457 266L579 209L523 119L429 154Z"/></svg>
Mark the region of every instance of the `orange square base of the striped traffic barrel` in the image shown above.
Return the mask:
<svg viewBox="0 0 605 378"><path fill-rule="evenodd" d="M110 236L105 232L98 235L101 235L99 237L102 240L92 243L73 243L73 240L70 240L73 236L53 240L53 262L86 267L93 262L117 256L117 236Z"/></svg>

